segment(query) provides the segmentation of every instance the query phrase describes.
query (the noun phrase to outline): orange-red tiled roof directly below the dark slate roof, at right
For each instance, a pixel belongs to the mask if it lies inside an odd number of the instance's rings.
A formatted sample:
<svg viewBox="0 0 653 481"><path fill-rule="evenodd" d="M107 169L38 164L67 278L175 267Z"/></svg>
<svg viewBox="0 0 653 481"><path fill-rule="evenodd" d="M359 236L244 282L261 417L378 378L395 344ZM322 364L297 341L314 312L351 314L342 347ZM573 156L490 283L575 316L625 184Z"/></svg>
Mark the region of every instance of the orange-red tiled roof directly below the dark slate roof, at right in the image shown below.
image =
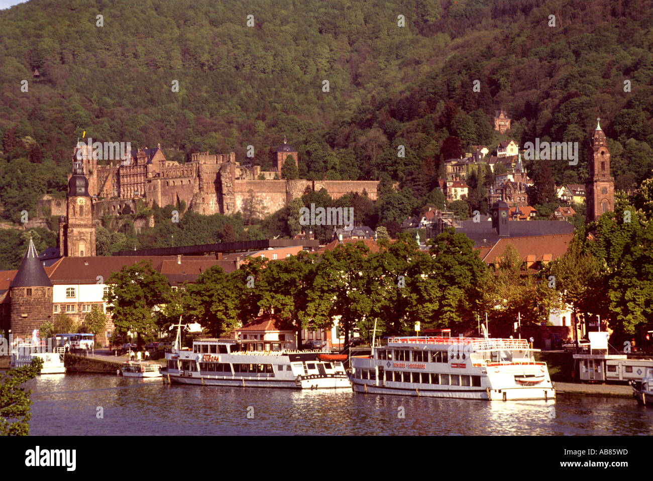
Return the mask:
<svg viewBox="0 0 653 481"><path fill-rule="evenodd" d="M534 255L535 261L554 260L565 255L572 239L573 233L504 238L494 244L483 261L486 264L497 262L508 244L517 249L519 257L524 261L529 255Z"/></svg>

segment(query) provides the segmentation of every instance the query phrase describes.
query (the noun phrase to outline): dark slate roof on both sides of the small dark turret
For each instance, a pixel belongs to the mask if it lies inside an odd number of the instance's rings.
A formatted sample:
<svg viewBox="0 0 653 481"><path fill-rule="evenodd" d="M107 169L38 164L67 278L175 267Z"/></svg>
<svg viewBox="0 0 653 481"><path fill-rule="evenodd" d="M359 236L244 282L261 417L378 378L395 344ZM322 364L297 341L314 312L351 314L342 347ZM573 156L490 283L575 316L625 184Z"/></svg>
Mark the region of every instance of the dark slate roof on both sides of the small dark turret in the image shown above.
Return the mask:
<svg viewBox="0 0 653 481"><path fill-rule="evenodd" d="M547 234L571 234L574 227L566 221L509 221L509 237L545 236ZM474 241L474 247L494 245L500 239L496 229L492 228L491 221L475 223L462 221L462 227L456 232L465 234ZM483 242L485 240L485 242Z"/></svg>

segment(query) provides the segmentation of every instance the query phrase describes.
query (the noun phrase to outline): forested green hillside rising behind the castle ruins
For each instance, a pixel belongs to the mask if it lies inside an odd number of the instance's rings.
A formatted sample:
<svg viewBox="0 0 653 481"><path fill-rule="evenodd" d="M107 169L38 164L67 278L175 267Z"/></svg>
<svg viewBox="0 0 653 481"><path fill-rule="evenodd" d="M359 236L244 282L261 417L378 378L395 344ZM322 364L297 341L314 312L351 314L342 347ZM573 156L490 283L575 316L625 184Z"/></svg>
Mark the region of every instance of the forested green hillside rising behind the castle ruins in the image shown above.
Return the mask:
<svg viewBox="0 0 653 481"><path fill-rule="evenodd" d="M84 131L178 161L252 145L264 167L285 134L302 177L399 181L388 221L432 198L445 139L496 147L499 108L520 146L580 143L578 166L526 163L558 184L584 182L600 116L633 190L653 168L652 25L651 0L31 0L0 11L0 215L63 193Z"/></svg>

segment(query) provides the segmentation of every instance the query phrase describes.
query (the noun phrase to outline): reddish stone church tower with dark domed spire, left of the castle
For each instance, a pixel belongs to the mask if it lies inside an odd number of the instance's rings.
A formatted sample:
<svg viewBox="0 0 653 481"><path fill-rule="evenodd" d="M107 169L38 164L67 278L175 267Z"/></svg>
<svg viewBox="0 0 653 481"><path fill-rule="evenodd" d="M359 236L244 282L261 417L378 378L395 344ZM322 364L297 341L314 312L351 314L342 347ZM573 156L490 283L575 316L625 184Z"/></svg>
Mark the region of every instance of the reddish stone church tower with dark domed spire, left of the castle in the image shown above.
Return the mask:
<svg viewBox="0 0 653 481"><path fill-rule="evenodd" d="M68 181L68 217L59 225L59 250L67 257L95 256L95 226L93 226L88 179L81 161L74 161Z"/></svg>

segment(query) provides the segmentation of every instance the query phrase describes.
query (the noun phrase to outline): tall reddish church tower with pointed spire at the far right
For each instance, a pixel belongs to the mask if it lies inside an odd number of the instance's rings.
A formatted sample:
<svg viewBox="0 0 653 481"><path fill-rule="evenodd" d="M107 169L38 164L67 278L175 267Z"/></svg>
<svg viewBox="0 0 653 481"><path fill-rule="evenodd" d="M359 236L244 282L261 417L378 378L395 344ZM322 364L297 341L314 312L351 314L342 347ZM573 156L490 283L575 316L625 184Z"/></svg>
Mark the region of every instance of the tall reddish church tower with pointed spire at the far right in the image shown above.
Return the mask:
<svg viewBox="0 0 653 481"><path fill-rule="evenodd" d="M596 119L588 157L590 177L585 182L586 222L596 221L601 214L614 211L614 178L610 176L610 151L599 120Z"/></svg>

